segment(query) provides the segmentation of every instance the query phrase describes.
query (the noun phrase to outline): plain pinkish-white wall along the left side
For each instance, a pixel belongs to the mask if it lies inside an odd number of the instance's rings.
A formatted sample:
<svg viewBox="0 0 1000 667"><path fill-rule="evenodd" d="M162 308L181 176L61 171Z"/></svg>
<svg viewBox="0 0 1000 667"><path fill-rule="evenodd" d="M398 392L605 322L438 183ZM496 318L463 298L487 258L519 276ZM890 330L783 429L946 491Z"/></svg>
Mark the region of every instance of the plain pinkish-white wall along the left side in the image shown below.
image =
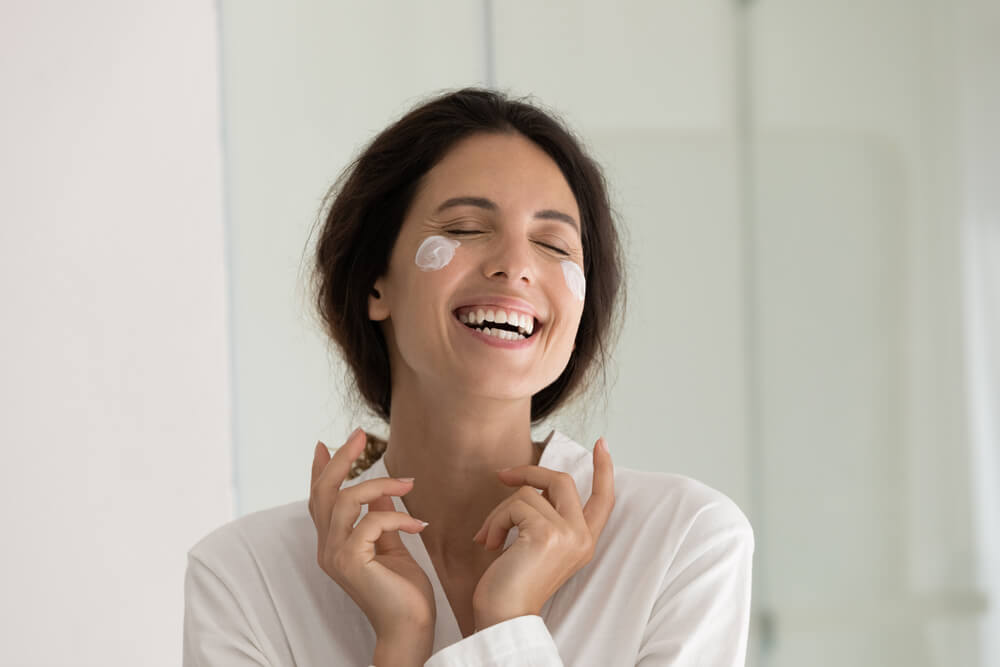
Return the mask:
<svg viewBox="0 0 1000 667"><path fill-rule="evenodd" d="M216 12L0 7L7 665L177 665L232 516Z"/></svg>

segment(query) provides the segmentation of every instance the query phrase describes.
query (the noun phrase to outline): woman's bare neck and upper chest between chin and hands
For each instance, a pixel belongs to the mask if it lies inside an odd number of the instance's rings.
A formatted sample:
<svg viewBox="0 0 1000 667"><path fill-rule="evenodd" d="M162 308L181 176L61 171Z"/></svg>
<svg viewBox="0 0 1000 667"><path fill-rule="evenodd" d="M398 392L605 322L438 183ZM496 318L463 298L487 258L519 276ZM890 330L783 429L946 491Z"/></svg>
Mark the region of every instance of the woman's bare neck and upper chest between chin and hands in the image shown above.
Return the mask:
<svg viewBox="0 0 1000 667"><path fill-rule="evenodd" d="M456 568L490 557L472 542L487 515L517 487L500 468L537 465L542 443L531 440L531 399L484 399L394 387L389 442L383 455L392 477L413 477L401 497L429 525L421 538L432 557Z"/></svg>

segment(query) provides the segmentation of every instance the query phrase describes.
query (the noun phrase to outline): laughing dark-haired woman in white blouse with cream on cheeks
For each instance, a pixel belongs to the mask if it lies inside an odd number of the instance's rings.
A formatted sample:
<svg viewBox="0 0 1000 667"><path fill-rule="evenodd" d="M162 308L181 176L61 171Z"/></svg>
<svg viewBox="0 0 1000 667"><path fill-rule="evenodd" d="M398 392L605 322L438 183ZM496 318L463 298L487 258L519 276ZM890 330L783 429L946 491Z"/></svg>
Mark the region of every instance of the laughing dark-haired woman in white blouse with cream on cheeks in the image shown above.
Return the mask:
<svg viewBox="0 0 1000 667"><path fill-rule="evenodd" d="M622 262L552 115L440 95L331 190L317 303L388 442L189 552L188 665L740 665L753 532L725 495L531 426L603 369ZM401 532L400 532L401 531Z"/></svg>

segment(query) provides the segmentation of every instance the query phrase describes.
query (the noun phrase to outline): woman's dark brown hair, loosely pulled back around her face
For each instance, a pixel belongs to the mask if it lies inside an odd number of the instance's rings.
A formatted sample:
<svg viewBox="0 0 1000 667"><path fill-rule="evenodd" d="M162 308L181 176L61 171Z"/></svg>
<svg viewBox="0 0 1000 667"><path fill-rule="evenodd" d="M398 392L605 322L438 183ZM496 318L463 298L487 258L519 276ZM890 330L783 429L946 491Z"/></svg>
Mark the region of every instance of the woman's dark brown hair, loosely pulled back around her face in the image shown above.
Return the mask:
<svg viewBox="0 0 1000 667"><path fill-rule="evenodd" d="M378 323L368 317L368 297L375 280L388 271L423 175L459 140L478 133L520 133L533 141L559 166L580 209L587 291L576 347L562 374L531 397L531 423L590 386L598 372L606 384L605 365L624 319L625 290L621 241L604 175L556 114L525 98L463 88L420 103L380 132L344 168L320 210L312 266L318 314L350 370L357 396L387 423L389 350ZM385 452L385 440L367 438L348 479Z"/></svg>

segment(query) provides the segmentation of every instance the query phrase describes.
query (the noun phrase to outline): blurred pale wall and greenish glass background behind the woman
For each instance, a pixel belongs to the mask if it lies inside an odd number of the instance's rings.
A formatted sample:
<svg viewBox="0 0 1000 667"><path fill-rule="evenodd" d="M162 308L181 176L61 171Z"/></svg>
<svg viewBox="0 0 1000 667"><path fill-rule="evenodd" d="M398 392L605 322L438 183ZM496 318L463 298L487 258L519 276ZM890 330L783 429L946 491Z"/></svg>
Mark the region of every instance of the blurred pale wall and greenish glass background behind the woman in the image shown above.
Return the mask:
<svg viewBox="0 0 1000 667"><path fill-rule="evenodd" d="M0 56L8 664L178 664L187 549L386 435L310 233L482 85L581 136L626 233L607 398L535 435L744 509L750 665L1000 665L995 0L5 0Z"/></svg>

